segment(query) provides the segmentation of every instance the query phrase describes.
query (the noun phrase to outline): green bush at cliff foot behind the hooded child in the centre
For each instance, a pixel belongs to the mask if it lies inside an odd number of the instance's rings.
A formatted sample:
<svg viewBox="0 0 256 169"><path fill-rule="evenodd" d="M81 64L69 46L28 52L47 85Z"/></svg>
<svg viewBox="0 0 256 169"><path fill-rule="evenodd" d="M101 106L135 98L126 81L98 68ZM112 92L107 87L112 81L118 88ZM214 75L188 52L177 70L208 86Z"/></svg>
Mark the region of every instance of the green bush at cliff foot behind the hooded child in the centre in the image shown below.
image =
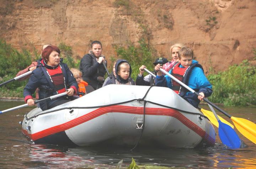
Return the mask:
<svg viewBox="0 0 256 169"><path fill-rule="evenodd" d="M127 47L115 47L118 58L126 59L132 66L132 78L135 81L139 74L139 67L145 65L148 70L154 69L155 49L150 47L144 39L139 41L139 45L128 43Z"/></svg>

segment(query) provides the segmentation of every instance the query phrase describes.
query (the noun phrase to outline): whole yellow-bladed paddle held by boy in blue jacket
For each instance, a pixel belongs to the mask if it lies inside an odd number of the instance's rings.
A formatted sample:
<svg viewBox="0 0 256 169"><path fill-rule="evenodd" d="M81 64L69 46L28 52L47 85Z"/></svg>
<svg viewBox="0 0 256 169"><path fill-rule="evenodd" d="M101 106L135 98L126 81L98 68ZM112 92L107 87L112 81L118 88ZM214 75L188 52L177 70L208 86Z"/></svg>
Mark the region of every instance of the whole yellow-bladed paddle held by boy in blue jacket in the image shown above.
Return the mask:
<svg viewBox="0 0 256 169"><path fill-rule="evenodd" d="M186 89L188 89L190 92L196 94L199 96L199 94L194 91L193 89L191 89L190 87L188 87L186 84L182 83L181 81L179 81L177 78L175 78L174 76L172 76L171 74L169 74L167 71L165 71L164 69L160 68L160 71L165 73L166 75L168 75L169 77L171 77L173 80L175 80L177 83L179 83L181 86L185 87ZM219 110L220 112L222 112L224 115L226 115L227 117L229 117L233 123L235 124L235 127L238 129L238 131L244 135L247 139L249 139L250 141L252 141L254 144L256 144L256 124L246 120L244 118L238 118L238 117L232 117L230 116L228 113L226 113L224 110L220 109L218 106L216 106L215 104L213 104L211 101L209 101L208 99L203 99L206 103L212 105L215 109Z"/></svg>

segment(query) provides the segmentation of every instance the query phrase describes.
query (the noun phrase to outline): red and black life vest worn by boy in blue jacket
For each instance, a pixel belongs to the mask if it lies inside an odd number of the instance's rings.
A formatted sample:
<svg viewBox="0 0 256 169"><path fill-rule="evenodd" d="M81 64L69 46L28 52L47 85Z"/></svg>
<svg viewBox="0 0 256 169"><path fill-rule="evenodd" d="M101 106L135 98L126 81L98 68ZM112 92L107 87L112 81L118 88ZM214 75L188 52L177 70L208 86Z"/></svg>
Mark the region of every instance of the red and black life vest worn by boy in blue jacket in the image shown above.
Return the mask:
<svg viewBox="0 0 256 169"><path fill-rule="evenodd" d="M180 80L181 82L183 82L186 85L188 84L190 74L194 67L199 67L199 68L203 69L202 65L200 65L198 63L193 63L190 66L188 66L187 68L180 68L180 65L181 65L181 63L176 63L172 68L171 74L172 74L172 76L176 77L178 80ZM188 92L188 90L185 87L182 87L175 80L171 79L171 83L172 83L172 90L175 93L177 93L178 95L180 95L181 97L183 97Z"/></svg>

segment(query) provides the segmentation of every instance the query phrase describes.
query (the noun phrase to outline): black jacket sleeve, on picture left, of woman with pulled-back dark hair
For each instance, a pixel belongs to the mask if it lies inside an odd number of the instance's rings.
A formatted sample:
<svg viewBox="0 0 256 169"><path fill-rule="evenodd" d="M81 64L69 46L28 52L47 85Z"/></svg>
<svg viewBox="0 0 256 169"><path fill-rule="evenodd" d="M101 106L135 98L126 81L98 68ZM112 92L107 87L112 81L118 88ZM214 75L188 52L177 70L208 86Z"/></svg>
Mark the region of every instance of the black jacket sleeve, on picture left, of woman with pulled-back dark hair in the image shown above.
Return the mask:
<svg viewBox="0 0 256 169"><path fill-rule="evenodd" d="M92 76L97 72L98 66L100 65L96 62L92 65L92 58L88 54L86 54L80 62L80 70L82 71L83 75L85 76Z"/></svg>

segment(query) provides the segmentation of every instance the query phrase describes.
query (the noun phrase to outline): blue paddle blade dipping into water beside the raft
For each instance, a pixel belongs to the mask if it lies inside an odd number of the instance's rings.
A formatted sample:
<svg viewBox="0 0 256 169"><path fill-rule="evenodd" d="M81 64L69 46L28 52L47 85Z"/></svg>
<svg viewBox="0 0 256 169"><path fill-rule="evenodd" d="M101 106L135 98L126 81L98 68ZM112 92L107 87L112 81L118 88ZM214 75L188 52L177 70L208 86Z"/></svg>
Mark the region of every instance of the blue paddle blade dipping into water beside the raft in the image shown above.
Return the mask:
<svg viewBox="0 0 256 169"><path fill-rule="evenodd" d="M235 130L231 128L228 124L225 124L218 120L219 122L219 137L223 144L229 148L240 148L241 140L236 134Z"/></svg>

